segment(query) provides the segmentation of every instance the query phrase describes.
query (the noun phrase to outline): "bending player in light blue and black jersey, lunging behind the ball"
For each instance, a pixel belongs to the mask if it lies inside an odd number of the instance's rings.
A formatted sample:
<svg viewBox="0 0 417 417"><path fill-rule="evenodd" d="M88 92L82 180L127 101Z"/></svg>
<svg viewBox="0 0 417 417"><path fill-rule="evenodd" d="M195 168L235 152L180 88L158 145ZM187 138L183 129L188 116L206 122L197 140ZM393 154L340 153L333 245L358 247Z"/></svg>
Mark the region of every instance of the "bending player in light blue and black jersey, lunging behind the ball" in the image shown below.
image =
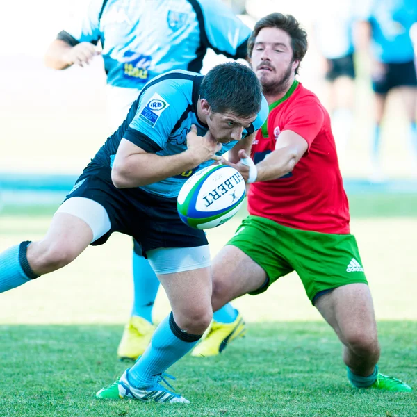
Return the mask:
<svg viewBox="0 0 417 417"><path fill-rule="evenodd" d="M196 172L227 151L239 161L238 150L249 152L267 116L261 85L246 65L217 65L206 76L176 70L156 77L85 168L44 238L0 254L1 293L63 268L114 231L141 245L172 312L140 359L99 398L188 402L160 384L212 318L206 236L177 213L177 195L188 178L183 172Z"/></svg>

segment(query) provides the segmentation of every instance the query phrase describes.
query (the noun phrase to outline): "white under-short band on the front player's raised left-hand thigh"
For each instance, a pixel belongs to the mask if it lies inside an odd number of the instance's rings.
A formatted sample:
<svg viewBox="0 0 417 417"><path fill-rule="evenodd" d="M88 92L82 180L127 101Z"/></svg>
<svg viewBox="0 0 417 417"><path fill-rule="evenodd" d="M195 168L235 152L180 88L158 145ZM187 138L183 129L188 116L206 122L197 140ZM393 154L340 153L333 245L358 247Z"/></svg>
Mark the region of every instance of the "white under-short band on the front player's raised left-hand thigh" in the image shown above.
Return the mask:
<svg viewBox="0 0 417 417"><path fill-rule="evenodd" d="M83 220L92 230L90 243L101 238L111 229L110 218L101 204L86 197L70 197L60 205L56 213L67 213Z"/></svg>

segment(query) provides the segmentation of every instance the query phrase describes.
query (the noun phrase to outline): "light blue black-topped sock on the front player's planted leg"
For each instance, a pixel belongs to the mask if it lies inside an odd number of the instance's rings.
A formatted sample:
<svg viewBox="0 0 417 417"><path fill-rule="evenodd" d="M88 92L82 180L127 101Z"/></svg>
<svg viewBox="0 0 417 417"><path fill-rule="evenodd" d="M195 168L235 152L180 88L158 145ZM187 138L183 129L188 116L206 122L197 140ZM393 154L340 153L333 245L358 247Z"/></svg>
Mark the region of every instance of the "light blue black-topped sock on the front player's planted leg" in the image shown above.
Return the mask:
<svg viewBox="0 0 417 417"><path fill-rule="evenodd" d="M152 386L159 375L181 359L196 345L202 335L183 332L172 313L154 332L142 357L129 370L129 383L137 388Z"/></svg>

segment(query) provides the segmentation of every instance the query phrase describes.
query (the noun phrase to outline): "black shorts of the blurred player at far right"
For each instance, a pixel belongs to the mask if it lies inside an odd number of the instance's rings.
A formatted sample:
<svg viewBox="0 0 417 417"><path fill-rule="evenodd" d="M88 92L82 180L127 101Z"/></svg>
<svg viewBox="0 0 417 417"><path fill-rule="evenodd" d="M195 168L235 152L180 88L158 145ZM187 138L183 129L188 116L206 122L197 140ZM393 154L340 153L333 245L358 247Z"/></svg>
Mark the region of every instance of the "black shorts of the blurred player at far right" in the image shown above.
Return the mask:
<svg viewBox="0 0 417 417"><path fill-rule="evenodd" d="M372 81L372 88L377 94L386 95L395 87L417 86L416 65L413 60L408 63L384 64L384 67L385 73Z"/></svg>

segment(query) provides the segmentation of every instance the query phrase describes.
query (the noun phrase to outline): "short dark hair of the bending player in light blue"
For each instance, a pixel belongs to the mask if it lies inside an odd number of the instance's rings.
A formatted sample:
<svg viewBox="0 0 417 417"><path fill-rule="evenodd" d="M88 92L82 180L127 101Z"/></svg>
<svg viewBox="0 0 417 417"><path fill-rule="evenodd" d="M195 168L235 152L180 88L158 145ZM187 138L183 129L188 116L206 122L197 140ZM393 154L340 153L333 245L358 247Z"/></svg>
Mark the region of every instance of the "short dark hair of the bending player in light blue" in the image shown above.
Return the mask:
<svg viewBox="0 0 417 417"><path fill-rule="evenodd" d="M262 87L247 65L224 63L204 76L199 97L206 99L215 113L251 117L261 110Z"/></svg>

